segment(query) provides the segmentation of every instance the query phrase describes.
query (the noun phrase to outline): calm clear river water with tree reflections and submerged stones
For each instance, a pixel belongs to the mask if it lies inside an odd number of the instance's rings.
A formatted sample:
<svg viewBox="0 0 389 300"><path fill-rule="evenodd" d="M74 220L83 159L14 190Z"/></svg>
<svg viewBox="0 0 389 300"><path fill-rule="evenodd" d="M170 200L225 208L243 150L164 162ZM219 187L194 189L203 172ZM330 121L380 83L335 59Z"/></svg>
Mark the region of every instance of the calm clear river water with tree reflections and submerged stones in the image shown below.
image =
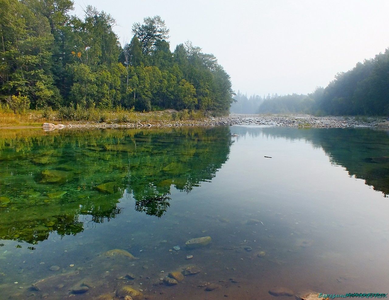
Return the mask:
<svg viewBox="0 0 389 300"><path fill-rule="evenodd" d="M2 130L0 298L386 293L388 157L389 135L370 128ZM192 265L176 286L160 280Z"/></svg>

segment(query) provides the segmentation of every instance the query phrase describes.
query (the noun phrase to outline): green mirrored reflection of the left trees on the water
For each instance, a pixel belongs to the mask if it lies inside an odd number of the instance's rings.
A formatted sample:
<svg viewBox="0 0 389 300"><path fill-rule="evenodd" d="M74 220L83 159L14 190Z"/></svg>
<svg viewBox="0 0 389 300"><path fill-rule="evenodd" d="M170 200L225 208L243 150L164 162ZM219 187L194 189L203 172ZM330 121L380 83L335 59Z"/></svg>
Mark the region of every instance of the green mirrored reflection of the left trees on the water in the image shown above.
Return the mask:
<svg viewBox="0 0 389 300"><path fill-rule="evenodd" d="M170 189L189 193L228 158L227 127L164 130L0 132L0 239L37 244L51 232L84 230L120 214L126 190L135 210L160 218Z"/></svg>

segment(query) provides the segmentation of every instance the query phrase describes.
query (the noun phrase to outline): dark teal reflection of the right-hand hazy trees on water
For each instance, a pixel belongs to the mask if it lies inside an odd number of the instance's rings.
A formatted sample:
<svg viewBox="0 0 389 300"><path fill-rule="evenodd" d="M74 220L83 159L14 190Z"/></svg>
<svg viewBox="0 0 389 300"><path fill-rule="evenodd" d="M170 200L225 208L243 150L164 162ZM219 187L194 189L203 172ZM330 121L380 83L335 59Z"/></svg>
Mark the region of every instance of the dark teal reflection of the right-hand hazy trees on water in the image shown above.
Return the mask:
<svg viewBox="0 0 389 300"><path fill-rule="evenodd" d="M238 139L265 135L271 139L305 140L321 148L331 163L347 169L350 176L365 183L384 196L389 195L389 130L369 128L272 128L241 127Z"/></svg>

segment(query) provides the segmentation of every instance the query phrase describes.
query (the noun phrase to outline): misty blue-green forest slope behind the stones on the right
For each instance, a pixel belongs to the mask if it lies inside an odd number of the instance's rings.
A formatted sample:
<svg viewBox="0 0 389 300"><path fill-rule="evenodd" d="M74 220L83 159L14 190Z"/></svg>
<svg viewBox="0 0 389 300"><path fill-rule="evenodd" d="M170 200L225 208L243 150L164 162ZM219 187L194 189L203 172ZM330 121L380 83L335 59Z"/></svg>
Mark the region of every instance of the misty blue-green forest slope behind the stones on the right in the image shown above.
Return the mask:
<svg viewBox="0 0 389 300"><path fill-rule="evenodd" d="M326 88L316 88L308 95L271 96L257 113L389 115L389 48L336 74Z"/></svg>

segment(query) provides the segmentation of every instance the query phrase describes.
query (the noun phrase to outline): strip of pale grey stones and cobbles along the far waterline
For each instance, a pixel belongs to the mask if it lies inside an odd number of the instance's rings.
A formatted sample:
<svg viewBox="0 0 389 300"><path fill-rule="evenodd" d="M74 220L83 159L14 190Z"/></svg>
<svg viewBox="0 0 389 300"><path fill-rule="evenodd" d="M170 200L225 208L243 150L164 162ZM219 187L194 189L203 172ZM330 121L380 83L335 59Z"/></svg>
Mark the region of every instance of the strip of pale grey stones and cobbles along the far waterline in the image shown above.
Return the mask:
<svg viewBox="0 0 389 300"><path fill-rule="evenodd" d="M310 115L244 115L230 114L224 117L210 117L186 121L158 121L153 124L141 123L96 123L79 122L65 123L68 128L142 128L142 127L171 127L171 126L214 126L214 125L265 125L284 127L311 127L311 128L345 128L345 127L373 127L382 120L374 118L356 117L315 117ZM55 128L55 127L47 127Z"/></svg>

